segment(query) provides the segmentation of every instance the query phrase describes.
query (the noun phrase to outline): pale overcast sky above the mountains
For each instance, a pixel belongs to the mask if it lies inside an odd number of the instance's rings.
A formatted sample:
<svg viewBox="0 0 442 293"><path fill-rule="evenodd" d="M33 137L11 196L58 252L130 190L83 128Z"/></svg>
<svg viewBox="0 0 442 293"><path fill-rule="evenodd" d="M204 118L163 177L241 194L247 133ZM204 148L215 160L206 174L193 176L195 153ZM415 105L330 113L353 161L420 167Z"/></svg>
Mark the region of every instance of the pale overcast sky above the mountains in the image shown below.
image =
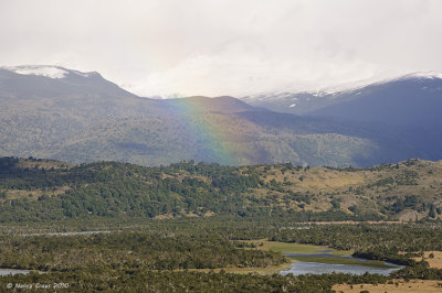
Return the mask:
<svg viewBox="0 0 442 293"><path fill-rule="evenodd" d="M0 65L241 97L442 72L442 1L1 0L0 40Z"/></svg>

